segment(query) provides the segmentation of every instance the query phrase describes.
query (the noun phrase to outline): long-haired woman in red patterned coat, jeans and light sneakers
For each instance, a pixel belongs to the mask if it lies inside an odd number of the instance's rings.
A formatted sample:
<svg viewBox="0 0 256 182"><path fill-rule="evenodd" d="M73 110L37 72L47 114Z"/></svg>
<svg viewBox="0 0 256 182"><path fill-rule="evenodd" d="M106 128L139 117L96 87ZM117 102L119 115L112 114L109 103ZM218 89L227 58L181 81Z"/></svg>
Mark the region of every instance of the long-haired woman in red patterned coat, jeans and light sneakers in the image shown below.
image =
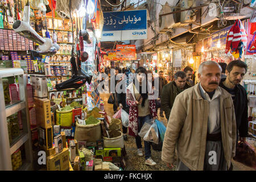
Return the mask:
<svg viewBox="0 0 256 182"><path fill-rule="evenodd" d="M135 71L135 79L139 82L133 81L127 87L126 92L126 103L130 106L129 110L129 135L135 137L136 145L138 148L138 155L143 156L141 137L138 133L141 131L144 122L150 122L151 119L156 119L155 100L150 100L148 96L152 93L151 88L147 88L147 71L143 67L139 67ZM146 88L143 88L142 82L146 81ZM142 86L143 85L143 86ZM146 93L143 91L146 90ZM151 144L150 142L144 141L145 149L145 164L155 166L156 163L151 159Z"/></svg>

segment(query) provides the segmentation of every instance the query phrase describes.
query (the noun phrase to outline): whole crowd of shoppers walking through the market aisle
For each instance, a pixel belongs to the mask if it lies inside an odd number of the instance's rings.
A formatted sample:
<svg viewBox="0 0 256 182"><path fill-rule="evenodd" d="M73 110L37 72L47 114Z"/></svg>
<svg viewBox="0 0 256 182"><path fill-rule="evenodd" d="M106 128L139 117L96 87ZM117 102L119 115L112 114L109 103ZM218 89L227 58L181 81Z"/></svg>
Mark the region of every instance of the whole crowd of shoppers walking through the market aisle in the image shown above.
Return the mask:
<svg viewBox="0 0 256 182"><path fill-rule="evenodd" d="M125 81L129 74L132 79L126 80L126 93L117 94L113 109L117 111L119 106L129 113L128 134L135 137L138 156L143 156L138 133L145 122L157 118L160 107L160 117L164 117L164 111L168 121L162 147L162 160L168 167L174 167L177 152L176 170L233 169L231 160L236 145L239 140L245 141L248 134L248 101L240 84L247 72L243 61L234 60L228 65L204 61L197 73L198 83L191 67L176 72L174 81L169 83L163 72L159 72L158 90L154 76L149 77L152 72L143 67L135 72L131 69L121 72L123 76L115 85ZM115 76L118 73L115 69ZM146 92L142 92L144 83ZM149 99L156 91L158 98ZM123 133L127 140L127 128L123 127ZM144 141L144 152L145 164L155 166L150 142Z"/></svg>

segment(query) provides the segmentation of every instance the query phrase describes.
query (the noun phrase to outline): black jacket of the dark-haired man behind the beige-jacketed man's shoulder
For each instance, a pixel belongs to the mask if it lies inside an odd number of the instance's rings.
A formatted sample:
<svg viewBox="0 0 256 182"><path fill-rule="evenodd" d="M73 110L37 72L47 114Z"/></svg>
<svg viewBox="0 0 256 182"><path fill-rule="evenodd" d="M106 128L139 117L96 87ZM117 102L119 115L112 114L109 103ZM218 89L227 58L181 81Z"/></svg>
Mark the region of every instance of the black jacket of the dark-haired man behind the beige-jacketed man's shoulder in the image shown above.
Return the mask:
<svg viewBox="0 0 256 182"><path fill-rule="evenodd" d="M220 86L225 89L223 82L226 78L221 79ZM227 90L228 91L228 90ZM245 88L242 85L236 85L236 97L234 100L234 110L236 114L237 131L240 137L247 137L248 134L248 100ZM237 132L238 134L238 132Z"/></svg>

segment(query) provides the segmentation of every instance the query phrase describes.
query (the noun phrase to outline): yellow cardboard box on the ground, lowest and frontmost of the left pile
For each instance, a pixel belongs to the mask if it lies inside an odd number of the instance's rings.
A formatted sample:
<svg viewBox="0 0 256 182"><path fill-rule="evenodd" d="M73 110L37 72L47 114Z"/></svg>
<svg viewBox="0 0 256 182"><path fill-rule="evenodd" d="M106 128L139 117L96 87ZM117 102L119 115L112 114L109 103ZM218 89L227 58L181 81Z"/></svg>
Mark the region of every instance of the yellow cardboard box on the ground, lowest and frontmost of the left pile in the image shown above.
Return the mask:
<svg viewBox="0 0 256 182"><path fill-rule="evenodd" d="M63 148L60 154L47 157L47 171L69 171L68 148Z"/></svg>

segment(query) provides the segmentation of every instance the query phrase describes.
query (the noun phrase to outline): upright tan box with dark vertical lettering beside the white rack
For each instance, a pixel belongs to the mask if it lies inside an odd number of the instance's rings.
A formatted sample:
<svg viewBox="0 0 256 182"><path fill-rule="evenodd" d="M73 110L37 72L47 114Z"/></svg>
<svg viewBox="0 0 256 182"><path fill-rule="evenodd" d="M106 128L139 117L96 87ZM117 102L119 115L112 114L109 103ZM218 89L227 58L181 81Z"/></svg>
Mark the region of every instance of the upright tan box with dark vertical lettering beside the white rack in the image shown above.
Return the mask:
<svg viewBox="0 0 256 182"><path fill-rule="evenodd" d="M34 98L36 106L36 122L42 127L52 127L51 104L47 99Z"/></svg>

